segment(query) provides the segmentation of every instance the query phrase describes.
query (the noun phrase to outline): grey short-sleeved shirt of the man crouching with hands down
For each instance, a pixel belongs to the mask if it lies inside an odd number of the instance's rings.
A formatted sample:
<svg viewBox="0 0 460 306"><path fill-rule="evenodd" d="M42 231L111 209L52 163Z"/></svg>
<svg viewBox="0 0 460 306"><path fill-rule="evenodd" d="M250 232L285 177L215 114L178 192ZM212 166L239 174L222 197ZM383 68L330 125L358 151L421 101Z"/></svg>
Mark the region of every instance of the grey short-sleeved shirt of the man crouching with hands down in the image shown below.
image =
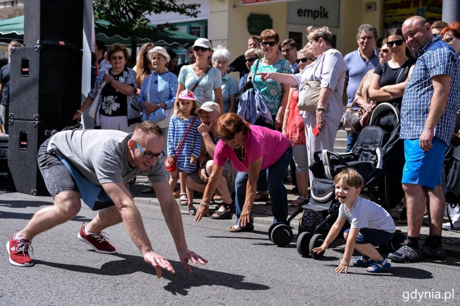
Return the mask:
<svg viewBox="0 0 460 306"><path fill-rule="evenodd" d="M89 181L127 183L134 175L146 175L152 182L166 182L164 158L146 171L128 163L128 134L116 130L72 130L56 133L48 144L48 153L58 153Z"/></svg>

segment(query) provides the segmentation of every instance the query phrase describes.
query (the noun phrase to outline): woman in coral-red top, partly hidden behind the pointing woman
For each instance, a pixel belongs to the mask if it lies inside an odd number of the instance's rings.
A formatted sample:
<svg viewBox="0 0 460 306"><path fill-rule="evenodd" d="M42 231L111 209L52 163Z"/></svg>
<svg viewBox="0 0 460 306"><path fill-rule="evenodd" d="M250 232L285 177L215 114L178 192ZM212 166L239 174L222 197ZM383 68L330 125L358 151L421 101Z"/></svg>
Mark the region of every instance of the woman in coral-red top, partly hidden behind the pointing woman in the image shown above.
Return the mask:
<svg viewBox="0 0 460 306"><path fill-rule="evenodd" d="M313 52L302 49L297 52L297 67L300 72L316 60ZM311 66L310 66L311 67ZM284 112L283 129L292 144L292 157L295 164L295 178L297 180L298 197L291 202L291 206L299 206L308 194L308 157L305 140L305 125L297 108L298 90L290 88L288 104Z"/></svg>

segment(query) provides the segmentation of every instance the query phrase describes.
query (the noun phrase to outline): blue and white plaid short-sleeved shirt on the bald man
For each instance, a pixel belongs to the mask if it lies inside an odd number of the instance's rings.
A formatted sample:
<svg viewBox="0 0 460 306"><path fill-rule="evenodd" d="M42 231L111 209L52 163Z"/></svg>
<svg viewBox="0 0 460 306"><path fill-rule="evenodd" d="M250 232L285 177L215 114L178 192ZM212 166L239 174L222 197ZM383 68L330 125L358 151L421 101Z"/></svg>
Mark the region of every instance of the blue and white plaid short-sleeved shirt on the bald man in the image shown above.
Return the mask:
<svg viewBox="0 0 460 306"><path fill-rule="evenodd" d="M431 78L452 77L446 109L434 128L434 136L450 143L455 125L455 113L460 101L460 60L450 45L435 35L418 52L415 68L404 90L401 106L402 139L417 139L423 132L433 97Z"/></svg>

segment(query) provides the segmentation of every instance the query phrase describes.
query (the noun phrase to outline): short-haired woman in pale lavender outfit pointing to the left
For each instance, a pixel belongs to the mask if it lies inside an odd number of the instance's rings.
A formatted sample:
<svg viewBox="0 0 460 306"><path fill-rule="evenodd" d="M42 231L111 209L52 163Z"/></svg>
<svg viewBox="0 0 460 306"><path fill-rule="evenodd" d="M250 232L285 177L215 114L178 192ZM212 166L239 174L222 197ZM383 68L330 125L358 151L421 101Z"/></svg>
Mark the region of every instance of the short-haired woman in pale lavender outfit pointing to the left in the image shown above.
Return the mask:
<svg viewBox="0 0 460 306"><path fill-rule="evenodd" d="M321 89L315 112L302 111L306 129L308 164L314 153L323 149L334 150L337 128L343 114L342 93L347 66L343 56L332 48L332 33L328 27L320 27L308 33L313 54L317 59L296 75L261 74L262 80L273 79L298 88L301 92L307 81L318 81ZM319 133L314 134L317 127ZM316 130L316 129L315 129ZM310 181L313 181L310 171Z"/></svg>

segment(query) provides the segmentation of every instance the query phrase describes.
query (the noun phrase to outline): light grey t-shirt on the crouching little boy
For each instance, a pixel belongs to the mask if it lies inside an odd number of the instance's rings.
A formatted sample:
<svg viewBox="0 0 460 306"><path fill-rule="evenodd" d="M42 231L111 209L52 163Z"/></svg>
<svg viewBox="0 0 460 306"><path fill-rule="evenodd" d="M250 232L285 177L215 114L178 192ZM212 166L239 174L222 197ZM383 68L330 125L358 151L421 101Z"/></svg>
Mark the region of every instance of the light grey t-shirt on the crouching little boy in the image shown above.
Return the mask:
<svg viewBox="0 0 460 306"><path fill-rule="evenodd" d="M345 204L340 204L339 217L347 218L351 228L381 229L387 232L396 231L395 222L382 206L360 196L356 198L355 204L350 210L347 210Z"/></svg>

